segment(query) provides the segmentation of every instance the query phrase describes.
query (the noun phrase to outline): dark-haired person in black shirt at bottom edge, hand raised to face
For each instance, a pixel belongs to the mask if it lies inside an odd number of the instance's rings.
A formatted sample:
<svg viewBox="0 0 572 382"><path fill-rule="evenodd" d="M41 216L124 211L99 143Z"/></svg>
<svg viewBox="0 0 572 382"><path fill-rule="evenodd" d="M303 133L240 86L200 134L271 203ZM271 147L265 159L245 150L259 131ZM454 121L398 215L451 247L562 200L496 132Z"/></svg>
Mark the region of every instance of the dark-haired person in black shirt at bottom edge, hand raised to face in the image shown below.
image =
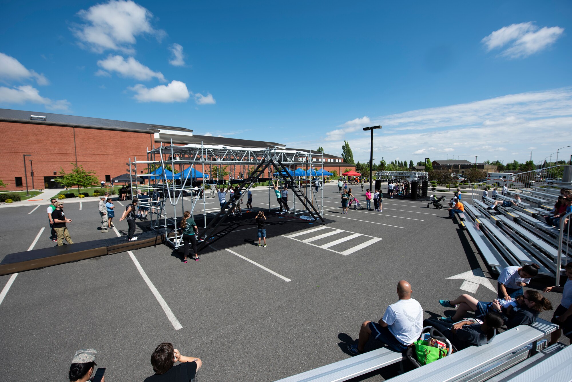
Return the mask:
<svg viewBox="0 0 572 382"><path fill-rule="evenodd" d="M175 362L180 364L173 366ZM194 379L202 361L197 357L185 357L173 345L164 342L151 355L154 375L144 382L189 382Z"/></svg>

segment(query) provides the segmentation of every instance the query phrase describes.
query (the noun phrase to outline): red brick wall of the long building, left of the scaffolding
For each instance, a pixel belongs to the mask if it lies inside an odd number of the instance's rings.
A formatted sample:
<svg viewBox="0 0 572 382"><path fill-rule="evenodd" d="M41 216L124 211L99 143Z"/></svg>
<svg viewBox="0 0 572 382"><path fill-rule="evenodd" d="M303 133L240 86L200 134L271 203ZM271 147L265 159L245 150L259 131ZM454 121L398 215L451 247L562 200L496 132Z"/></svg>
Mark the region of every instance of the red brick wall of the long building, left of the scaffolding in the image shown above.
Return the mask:
<svg viewBox="0 0 572 382"><path fill-rule="evenodd" d="M74 144L75 133L75 144ZM28 186L32 189L30 159L34 167L34 186L44 188L43 177L54 177L60 167L66 172L73 168L72 162L83 165L86 170L96 171L99 180L106 175L112 178L125 174L129 158L137 156L146 160L146 150L154 143L152 133L121 132L117 130L73 128L0 122L0 137L3 149L0 152L0 179L7 185L5 190L25 190L24 164L26 157ZM15 186L15 177L22 177L22 186Z"/></svg>

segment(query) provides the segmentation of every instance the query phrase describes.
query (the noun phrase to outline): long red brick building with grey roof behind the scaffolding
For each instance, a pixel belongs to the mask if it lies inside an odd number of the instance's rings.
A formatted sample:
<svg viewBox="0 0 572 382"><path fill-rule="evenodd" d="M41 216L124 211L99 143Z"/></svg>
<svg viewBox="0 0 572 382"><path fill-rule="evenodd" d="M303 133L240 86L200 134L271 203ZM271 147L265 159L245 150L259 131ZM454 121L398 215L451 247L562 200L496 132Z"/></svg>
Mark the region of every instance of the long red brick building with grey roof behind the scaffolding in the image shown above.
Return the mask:
<svg viewBox="0 0 572 382"><path fill-rule="evenodd" d="M25 174L29 189L59 188L53 178L61 168L65 172L72 170L72 164L94 170L100 181L109 182L113 177L129 172L126 164L129 158L146 160L147 150L153 145L170 144L171 141L176 145L204 142L285 148L276 142L196 136L193 130L174 126L11 109L0 109L0 134L4 147L0 152L0 180L5 182L5 190L25 190ZM30 156L23 157L24 154ZM314 159L314 165L320 168L321 158ZM336 170L338 174L346 168L355 170L355 165L345 164L341 157L328 154L324 154L324 164L326 170Z"/></svg>

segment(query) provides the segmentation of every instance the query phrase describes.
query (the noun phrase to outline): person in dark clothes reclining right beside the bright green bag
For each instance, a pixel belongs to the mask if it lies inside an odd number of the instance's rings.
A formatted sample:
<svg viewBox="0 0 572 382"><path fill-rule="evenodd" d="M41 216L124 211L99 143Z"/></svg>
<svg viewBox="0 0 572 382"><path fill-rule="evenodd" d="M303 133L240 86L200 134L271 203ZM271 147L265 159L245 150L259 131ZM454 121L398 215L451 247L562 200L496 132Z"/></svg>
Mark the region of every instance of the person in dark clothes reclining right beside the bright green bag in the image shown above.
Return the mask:
<svg viewBox="0 0 572 382"><path fill-rule="evenodd" d="M472 320L462 320L450 324L435 319L427 319L423 321L423 326L437 329L459 351L470 346L490 343L496 334L496 328L505 324L502 316L494 312L488 312L482 321L482 324Z"/></svg>

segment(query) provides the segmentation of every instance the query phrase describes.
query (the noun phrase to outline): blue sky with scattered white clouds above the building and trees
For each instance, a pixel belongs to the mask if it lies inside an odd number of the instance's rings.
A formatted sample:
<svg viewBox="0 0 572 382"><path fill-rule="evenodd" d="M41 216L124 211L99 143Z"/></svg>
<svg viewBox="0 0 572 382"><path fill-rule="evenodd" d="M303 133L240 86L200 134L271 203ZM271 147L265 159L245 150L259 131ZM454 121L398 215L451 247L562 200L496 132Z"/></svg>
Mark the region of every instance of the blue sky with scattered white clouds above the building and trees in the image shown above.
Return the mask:
<svg viewBox="0 0 572 382"><path fill-rule="evenodd" d="M362 162L379 124L375 161L572 146L569 1L0 4L0 108L347 140Z"/></svg>

